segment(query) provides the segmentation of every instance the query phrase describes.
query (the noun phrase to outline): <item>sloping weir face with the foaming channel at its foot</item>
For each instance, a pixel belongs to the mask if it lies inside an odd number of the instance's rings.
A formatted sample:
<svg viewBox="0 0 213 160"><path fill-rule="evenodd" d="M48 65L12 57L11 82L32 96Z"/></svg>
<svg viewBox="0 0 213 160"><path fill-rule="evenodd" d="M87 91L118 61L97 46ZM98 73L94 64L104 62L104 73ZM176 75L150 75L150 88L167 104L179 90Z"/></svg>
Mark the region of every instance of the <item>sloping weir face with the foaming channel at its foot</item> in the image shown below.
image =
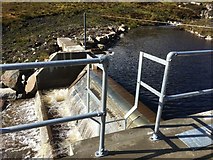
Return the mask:
<svg viewBox="0 0 213 160"><path fill-rule="evenodd" d="M81 76L71 87L63 89L54 89L38 92L41 98L42 107L45 108L45 114L49 119L74 116L87 113L87 90L86 74L82 71ZM109 80L107 96L107 118L106 134L118 132L125 129L124 115L132 107L128 100L124 99L119 93L116 93L116 84L112 86L112 80ZM115 89L113 88L115 87ZM91 88L99 97L101 93L101 79L97 71L91 72ZM118 88L118 87L117 87ZM100 107L95 101L90 101L90 111L99 111ZM99 136L100 118L84 119L63 124L50 126L49 138L52 145L53 157L64 157L72 155L72 143L92 137ZM149 124L150 121L141 113L135 112L130 117L130 127L136 127L143 124ZM45 133L45 132L44 132ZM45 140L47 142L47 140ZM55 147L57 146L57 147ZM46 148L49 150L48 148ZM44 151L44 153L49 153ZM45 157L45 155L43 155Z"/></svg>

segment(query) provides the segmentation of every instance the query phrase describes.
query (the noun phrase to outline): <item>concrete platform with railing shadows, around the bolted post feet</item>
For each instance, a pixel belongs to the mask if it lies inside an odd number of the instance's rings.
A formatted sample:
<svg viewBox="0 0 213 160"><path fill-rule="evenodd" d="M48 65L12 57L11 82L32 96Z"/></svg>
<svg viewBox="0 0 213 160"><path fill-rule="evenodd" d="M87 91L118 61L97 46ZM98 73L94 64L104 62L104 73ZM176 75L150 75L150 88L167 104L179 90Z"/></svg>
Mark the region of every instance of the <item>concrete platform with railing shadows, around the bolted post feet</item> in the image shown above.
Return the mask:
<svg viewBox="0 0 213 160"><path fill-rule="evenodd" d="M104 159L212 159L213 145L192 150L176 137L176 134L211 124L212 111L178 118L161 123L161 138L151 141L154 125L146 125L106 135L105 147L109 155ZM212 137L212 136L211 136ZM95 158L99 137L76 142L72 145L74 155L67 158Z"/></svg>

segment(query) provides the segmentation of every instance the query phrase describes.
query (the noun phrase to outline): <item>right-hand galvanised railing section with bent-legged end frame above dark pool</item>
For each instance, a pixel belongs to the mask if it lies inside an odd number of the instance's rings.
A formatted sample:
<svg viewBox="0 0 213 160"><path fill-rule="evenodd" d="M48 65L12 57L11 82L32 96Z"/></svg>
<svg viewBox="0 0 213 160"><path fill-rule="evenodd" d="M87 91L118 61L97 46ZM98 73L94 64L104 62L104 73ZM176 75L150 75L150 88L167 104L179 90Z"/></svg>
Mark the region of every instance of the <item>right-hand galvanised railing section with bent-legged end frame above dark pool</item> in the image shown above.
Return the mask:
<svg viewBox="0 0 213 160"><path fill-rule="evenodd" d="M150 55L148 53L140 52L139 56L139 65L138 65L138 76L137 76L137 85L136 85L136 94L135 94L135 102L134 106L126 113L125 120L127 121L128 117L138 108L138 100L139 100L139 94L140 94L140 86L143 86L153 94L159 97L158 101L158 111L157 111L157 117L155 122L155 129L154 133L152 135L152 140L158 140L159 139L159 128L160 128L160 120L162 115L162 110L164 107L164 104L166 101L171 101L175 99L180 98L186 98L186 97L192 97L192 96L198 96L198 95L204 95L204 94L210 94L213 93L213 89L205 89L200 91L193 91L193 92L187 92L187 93L180 93L175 95L166 95L166 86L168 81L168 75L169 75L169 69L172 63L172 59L177 56L194 56L194 55L206 55L206 54L213 54L213 50L198 50L198 51L182 51L182 52L170 52L167 54L166 60L158 58L156 56ZM163 81L161 86L161 91L157 91L150 85L143 82L141 79L141 73L142 73L142 66L143 66L143 58L147 58L151 61L154 61L156 63L159 63L161 65L165 66L164 69L164 75L163 75Z"/></svg>

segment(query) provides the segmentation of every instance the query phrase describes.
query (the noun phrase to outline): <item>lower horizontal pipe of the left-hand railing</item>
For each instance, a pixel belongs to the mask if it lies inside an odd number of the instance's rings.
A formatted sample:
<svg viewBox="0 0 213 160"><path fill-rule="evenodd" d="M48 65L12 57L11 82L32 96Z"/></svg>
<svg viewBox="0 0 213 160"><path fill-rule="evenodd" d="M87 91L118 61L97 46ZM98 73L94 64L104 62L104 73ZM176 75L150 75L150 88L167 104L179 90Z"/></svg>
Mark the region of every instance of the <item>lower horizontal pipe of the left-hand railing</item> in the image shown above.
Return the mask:
<svg viewBox="0 0 213 160"><path fill-rule="evenodd" d="M103 115L105 115L105 113L103 113L103 112L93 112L93 113L82 114L82 115L71 116L71 117L50 119L50 120L36 122L36 123L29 123L29 124L22 124L22 125L11 126L11 127L6 127L6 128L0 128L0 133L2 133L2 134L12 133L12 132L16 132L16 131L38 128L38 127L43 127L43 126L47 126L47 125L54 125L54 124L58 124L58 123L75 121L75 120L80 120L80 119L85 119L85 118L100 117Z"/></svg>

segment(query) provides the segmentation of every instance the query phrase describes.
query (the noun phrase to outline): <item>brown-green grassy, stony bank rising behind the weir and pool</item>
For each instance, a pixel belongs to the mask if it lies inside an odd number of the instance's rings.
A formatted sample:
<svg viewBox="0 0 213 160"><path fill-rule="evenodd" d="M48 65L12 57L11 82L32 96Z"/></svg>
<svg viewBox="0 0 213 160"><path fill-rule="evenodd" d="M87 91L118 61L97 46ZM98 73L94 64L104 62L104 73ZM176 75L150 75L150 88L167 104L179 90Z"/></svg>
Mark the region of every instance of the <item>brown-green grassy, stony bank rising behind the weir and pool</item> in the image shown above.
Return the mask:
<svg viewBox="0 0 213 160"><path fill-rule="evenodd" d="M85 11L88 29L95 28L98 33L121 24L130 28L159 25L115 18L119 16L184 22L199 19L201 10L202 6L180 8L178 3L3 3L1 62L43 61L59 50L58 37L82 40Z"/></svg>

